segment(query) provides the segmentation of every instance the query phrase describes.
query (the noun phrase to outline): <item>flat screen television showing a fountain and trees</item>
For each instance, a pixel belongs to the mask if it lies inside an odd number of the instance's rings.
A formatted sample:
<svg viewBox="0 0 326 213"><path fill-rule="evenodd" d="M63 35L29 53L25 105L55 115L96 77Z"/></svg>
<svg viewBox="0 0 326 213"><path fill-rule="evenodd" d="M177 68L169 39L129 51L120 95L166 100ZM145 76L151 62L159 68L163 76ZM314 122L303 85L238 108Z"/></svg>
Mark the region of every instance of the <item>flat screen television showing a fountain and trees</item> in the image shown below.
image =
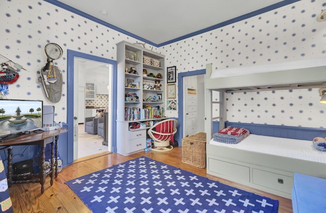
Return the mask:
<svg viewBox="0 0 326 213"><path fill-rule="evenodd" d="M0 139L43 127L43 101L0 99Z"/></svg>

